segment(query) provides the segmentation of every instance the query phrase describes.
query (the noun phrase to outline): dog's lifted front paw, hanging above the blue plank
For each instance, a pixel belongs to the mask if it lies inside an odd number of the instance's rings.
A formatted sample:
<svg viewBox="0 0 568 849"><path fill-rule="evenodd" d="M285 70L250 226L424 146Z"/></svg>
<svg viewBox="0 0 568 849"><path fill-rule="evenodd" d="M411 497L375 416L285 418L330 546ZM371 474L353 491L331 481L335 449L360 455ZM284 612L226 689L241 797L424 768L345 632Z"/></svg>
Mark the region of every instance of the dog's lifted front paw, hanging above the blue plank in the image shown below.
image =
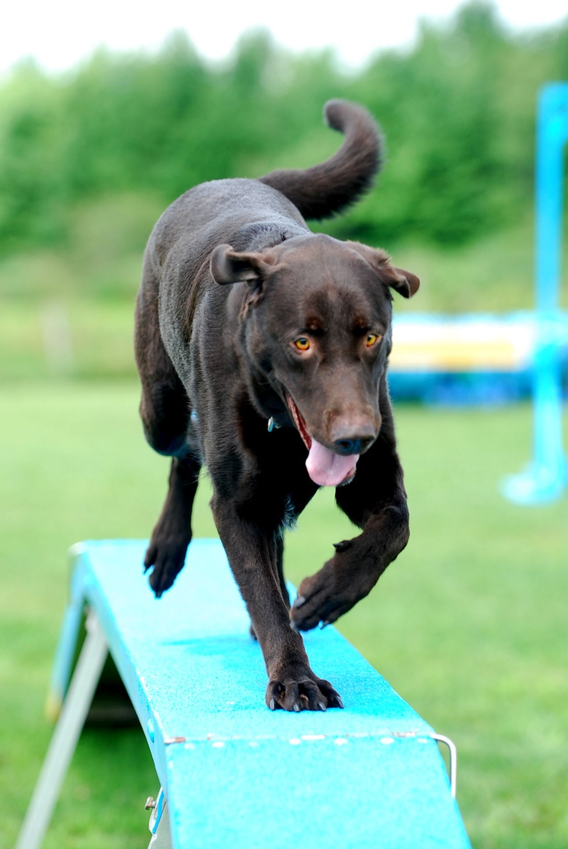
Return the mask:
<svg viewBox="0 0 568 849"><path fill-rule="evenodd" d="M379 576L371 562L361 561L350 543L338 543L335 557L315 575L304 578L290 609L295 631L309 631L335 622L363 599Z"/></svg>

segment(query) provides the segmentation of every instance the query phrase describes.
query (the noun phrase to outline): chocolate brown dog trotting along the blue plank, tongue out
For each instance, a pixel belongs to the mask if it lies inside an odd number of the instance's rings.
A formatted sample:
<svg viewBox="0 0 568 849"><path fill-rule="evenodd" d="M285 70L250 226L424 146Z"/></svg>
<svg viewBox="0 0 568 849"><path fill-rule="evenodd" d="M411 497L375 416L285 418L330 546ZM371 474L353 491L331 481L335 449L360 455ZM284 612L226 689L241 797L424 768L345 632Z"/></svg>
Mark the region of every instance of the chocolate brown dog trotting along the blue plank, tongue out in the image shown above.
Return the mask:
<svg viewBox="0 0 568 849"><path fill-rule="evenodd" d="M301 638L368 594L408 542L386 370L392 292L413 273L384 250L312 233L371 185L382 140L357 104L324 115L340 149L305 171L191 188L156 223L136 306L140 413L172 458L145 555L160 598L182 569L202 464L211 509L267 667L271 710L343 707ZM290 606L283 534L319 486L361 533L306 577Z"/></svg>

